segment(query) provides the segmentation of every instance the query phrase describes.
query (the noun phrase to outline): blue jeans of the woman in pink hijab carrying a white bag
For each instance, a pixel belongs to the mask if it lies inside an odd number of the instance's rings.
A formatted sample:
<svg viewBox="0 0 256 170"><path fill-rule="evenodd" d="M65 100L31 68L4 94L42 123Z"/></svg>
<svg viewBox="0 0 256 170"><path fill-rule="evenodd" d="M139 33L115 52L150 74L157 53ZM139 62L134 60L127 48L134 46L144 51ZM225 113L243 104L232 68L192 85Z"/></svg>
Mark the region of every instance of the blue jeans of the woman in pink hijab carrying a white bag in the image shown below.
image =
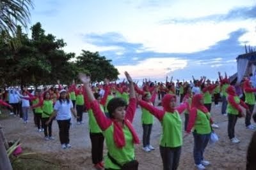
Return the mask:
<svg viewBox="0 0 256 170"><path fill-rule="evenodd" d="M204 150L209 142L210 139L209 134L197 134L196 132L193 132L194 136L194 160L195 164L201 164L202 160L204 160Z"/></svg>

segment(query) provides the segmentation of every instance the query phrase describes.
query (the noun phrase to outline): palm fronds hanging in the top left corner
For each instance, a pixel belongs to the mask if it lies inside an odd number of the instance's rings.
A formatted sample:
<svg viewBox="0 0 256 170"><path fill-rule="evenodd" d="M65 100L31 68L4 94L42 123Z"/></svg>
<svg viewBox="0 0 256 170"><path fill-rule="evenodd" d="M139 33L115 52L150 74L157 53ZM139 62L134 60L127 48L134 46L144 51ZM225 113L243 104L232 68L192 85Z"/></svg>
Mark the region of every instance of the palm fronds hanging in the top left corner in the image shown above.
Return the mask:
<svg viewBox="0 0 256 170"><path fill-rule="evenodd" d="M17 25L28 29L32 0L0 0L0 32L14 36Z"/></svg>

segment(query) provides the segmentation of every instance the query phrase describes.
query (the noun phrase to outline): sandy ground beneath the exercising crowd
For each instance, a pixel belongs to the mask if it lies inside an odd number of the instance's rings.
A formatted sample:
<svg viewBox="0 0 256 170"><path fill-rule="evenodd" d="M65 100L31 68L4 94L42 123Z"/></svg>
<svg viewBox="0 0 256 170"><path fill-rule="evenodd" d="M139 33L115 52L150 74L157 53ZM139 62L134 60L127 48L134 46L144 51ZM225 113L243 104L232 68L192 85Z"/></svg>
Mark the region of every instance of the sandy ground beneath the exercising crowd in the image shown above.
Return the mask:
<svg viewBox="0 0 256 170"><path fill-rule="evenodd" d="M241 140L241 143L231 144L227 136L227 117L220 114L220 109L221 106L212 106L212 117L214 118L214 122L220 126L220 129L216 129L220 141L214 145L208 145L205 150L205 159L211 162L211 166L208 166L207 169L245 169L246 150L253 131L245 129L244 118L239 118L236 125L236 136ZM138 108L133 125L141 139L142 126L140 117L141 111ZM184 115L181 117L184 120ZM74 124L71 127L70 144L72 148L67 150L61 149L56 121L53 122L52 127L55 139L45 141L44 132L37 132L32 120L33 114L30 112L28 124L24 124L20 118L14 117L13 115L0 120L0 124L3 126L8 140L20 138L22 147L25 150L32 150L51 162L67 167L64 169L93 169L90 155L91 143L88 132L87 113L84 113L85 124ZM140 162L139 169L163 169L159 153L160 134L161 124L158 120L155 120L152 128L151 144L156 150L145 153L141 145L136 145L136 159ZM104 148L104 153L106 155L106 147ZM193 135L184 138L179 169L195 169L193 160Z"/></svg>

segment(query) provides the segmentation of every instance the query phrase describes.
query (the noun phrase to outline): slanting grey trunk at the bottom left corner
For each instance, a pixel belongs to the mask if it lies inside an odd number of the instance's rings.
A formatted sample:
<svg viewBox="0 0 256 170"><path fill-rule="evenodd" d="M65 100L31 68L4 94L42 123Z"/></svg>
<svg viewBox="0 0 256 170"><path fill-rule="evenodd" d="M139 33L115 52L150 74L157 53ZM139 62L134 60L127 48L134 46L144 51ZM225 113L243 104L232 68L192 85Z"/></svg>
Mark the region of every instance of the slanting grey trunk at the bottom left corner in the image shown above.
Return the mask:
<svg viewBox="0 0 256 170"><path fill-rule="evenodd" d="M7 155L6 148L8 148L8 143L4 138L3 128L0 125L0 169L12 170L12 165Z"/></svg>

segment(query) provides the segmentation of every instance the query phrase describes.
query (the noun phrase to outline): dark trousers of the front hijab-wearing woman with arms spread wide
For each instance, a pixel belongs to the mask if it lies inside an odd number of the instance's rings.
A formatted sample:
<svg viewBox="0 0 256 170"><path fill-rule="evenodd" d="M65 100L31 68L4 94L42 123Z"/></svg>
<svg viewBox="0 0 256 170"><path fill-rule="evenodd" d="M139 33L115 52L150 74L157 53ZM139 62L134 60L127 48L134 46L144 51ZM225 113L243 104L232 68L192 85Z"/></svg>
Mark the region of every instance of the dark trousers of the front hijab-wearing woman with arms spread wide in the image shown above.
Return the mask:
<svg viewBox="0 0 256 170"><path fill-rule="evenodd" d="M179 166L181 146L176 148L160 146L163 170L176 170Z"/></svg>

